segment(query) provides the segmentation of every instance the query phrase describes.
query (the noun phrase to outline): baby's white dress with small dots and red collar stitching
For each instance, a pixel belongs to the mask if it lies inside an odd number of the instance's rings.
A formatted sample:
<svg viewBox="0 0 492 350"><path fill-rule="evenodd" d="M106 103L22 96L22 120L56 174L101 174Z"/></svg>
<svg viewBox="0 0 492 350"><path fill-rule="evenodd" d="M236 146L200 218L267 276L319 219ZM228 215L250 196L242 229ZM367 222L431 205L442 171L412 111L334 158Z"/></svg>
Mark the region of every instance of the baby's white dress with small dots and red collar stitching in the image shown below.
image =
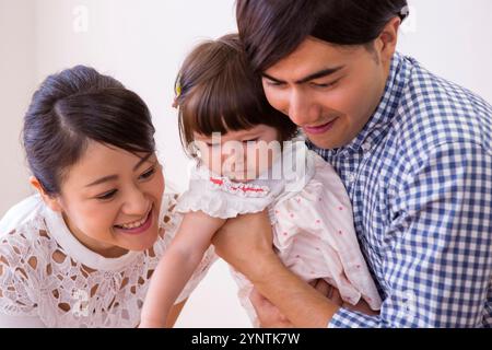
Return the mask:
<svg viewBox="0 0 492 350"><path fill-rule="evenodd" d="M289 269L305 281L325 279L350 304L362 298L371 308L380 308L382 300L355 236L345 188L331 165L302 141L283 149L268 176L248 183L215 176L197 164L176 211L203 211L229 219L267 207L274 248ZM243 306L258 326L248 298L251 283L237 271L233 277Z"/></svg>

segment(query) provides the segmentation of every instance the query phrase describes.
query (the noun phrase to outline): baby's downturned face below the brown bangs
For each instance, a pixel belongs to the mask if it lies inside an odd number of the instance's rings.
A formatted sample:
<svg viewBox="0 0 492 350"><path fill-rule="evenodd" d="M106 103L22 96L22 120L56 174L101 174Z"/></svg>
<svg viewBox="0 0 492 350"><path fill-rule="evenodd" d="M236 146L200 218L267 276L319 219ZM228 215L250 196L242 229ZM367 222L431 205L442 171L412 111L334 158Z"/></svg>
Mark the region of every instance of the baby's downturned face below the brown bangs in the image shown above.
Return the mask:
<svg viewBox="0 0 492 350"><path fill-rule="evenodd" d="M279 132L266 125L222 136L195 133L195 143L200 160L212 173L235 182L257 178L281 152Z"/></svg>

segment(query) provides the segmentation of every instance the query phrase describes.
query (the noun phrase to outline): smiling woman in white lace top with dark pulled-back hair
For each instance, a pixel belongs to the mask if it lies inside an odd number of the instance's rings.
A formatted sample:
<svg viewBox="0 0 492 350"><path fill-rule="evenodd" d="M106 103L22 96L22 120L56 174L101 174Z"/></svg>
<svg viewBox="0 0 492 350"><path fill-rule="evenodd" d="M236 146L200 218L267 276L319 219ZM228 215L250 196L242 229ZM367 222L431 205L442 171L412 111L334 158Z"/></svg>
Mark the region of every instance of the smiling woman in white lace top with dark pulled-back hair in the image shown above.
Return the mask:
<svg viewBox="0 0 492 350"><path fill-rule="evenodd" d="M115 79L75 67L48 77L24 119L37 196L0 224L0 327L136 327L180 217L163 195L143 101ZM211 250L179 296L214 260Z"/></svg>

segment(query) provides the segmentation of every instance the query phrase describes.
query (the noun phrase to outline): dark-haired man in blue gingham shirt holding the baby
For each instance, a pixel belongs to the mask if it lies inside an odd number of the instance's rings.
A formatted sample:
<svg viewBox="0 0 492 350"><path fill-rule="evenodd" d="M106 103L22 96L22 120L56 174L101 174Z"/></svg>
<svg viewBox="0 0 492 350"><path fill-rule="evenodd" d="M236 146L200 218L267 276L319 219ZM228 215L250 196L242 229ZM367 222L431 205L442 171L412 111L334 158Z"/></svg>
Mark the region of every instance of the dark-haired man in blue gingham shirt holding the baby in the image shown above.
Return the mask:
<svg viewBox="0 0 492 350"><path fill-rule="evenodd" d="M406 0L237 1L268 101L341 176L384 300L367 315L325 298L271 252L265 215L238 218L214 244L263 326L492 326L492 107L396 52L407 15Z"/></svg>

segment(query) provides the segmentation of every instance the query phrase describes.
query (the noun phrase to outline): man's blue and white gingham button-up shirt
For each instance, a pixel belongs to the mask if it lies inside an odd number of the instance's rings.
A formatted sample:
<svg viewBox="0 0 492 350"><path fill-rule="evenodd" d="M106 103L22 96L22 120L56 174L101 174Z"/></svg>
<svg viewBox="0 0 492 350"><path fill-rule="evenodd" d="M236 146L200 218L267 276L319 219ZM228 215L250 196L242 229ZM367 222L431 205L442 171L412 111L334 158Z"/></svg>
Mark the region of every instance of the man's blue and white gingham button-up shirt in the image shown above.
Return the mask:
<svg viewBox="0 0 492 350"><path fill-rule="evenodd" d="M492 107L396 54L382 102L321 150L352 200L384 303L329 327L492 327Z"/></svg>

